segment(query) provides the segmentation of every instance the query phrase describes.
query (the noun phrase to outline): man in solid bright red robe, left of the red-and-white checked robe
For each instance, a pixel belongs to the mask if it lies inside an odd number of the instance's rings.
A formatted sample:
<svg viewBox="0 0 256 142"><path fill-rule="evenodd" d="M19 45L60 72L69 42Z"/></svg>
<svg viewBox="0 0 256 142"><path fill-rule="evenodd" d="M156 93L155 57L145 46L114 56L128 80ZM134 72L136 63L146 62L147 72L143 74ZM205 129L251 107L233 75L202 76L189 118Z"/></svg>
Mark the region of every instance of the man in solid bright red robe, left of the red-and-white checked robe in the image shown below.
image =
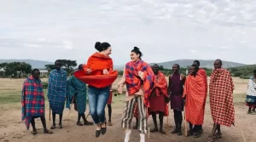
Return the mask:
<svg viewBox="0 0 256 142"><path fill-rule="evenodd" d="M206 104L206 88L205 78L201 74L197 73L198 68L192 65L189 69L189 76L186 79L183 99L185 99L185 115L186 121L189 122L189 133L195 138L201 136L201 132L193 132L193 125L202 125L204 122L205 115L205 104Z"/></svg>

